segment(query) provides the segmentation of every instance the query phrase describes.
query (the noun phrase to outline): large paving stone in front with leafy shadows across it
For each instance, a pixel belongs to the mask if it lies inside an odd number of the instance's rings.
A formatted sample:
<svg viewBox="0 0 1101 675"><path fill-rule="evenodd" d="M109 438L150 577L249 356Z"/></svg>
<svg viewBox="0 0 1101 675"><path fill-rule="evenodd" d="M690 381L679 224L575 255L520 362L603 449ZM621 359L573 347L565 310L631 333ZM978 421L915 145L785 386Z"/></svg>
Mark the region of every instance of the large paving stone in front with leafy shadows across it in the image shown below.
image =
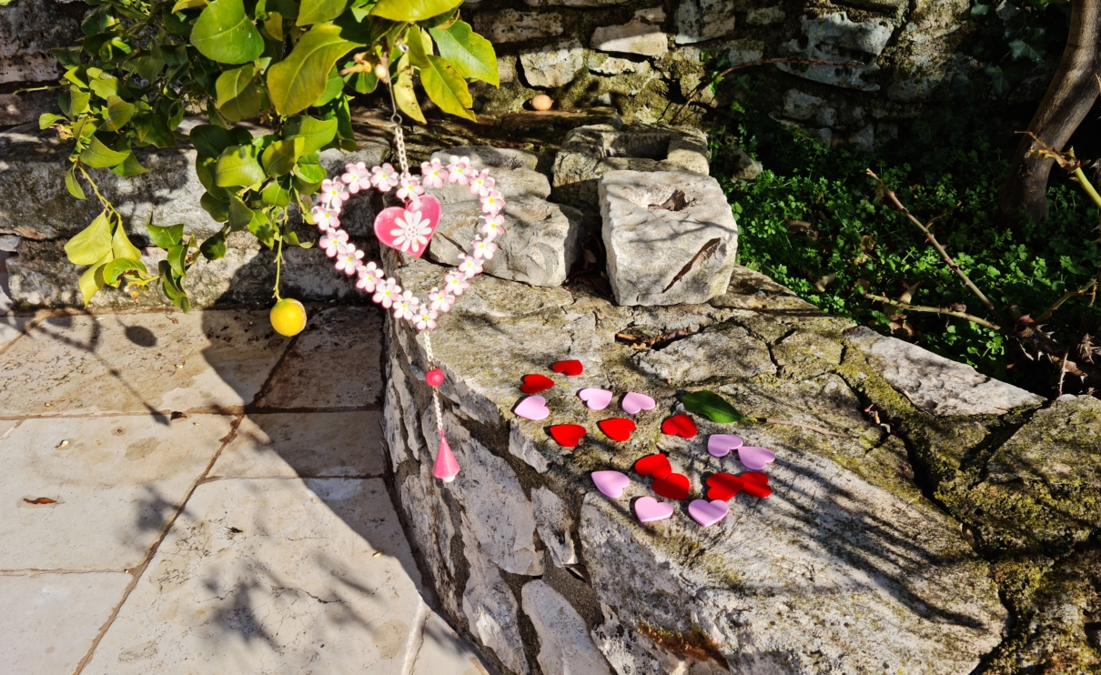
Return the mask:
<svg viewBox="0 0 1101 675"><path fill-rule="evenodd" d="M204 483L84 673L400 674L419 584L381 479Z"/></svg>

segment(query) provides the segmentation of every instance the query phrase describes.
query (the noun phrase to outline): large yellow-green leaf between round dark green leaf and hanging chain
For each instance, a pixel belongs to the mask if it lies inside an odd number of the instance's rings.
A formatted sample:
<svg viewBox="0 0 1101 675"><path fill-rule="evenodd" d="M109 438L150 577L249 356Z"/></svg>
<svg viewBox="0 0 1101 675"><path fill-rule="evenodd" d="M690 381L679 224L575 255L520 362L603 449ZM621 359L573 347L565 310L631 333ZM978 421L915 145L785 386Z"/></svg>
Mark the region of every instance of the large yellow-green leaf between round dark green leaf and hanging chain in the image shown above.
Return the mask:
<svg viewBox="0 0 1101 675"><path fill-rule="evenodd" d="M325 91L337 59L356 46L360 45L340 37L340 29L331 23L309 29L286 58L268 68L268 92L275 110L294 115L308 108Z"/></svg>

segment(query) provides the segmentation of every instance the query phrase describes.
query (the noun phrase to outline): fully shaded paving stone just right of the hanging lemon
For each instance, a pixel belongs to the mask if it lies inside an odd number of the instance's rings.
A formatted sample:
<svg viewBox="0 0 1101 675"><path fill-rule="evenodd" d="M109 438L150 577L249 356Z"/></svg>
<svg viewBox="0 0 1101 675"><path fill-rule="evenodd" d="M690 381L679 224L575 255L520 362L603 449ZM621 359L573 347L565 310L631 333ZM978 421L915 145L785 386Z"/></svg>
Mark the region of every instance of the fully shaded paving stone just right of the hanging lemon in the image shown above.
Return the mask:
<svg viewBox="0 0 1101 675"><path fill-rule="evenodd" d="M272 375L261 409L359 407L382 394L382 312L334 307L309 319Z"/></svg>

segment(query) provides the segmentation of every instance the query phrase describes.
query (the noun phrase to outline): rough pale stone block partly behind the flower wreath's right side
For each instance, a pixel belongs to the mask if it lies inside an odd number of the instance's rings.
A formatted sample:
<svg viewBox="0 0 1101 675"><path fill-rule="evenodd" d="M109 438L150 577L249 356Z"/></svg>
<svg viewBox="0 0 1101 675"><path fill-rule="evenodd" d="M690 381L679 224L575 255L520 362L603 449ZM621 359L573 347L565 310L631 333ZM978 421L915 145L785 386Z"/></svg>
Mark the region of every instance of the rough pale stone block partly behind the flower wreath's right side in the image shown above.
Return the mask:
<svg viewBox="0 0 1101 675"><path fill-rule="evenodd" d="M504 235L486 261L486 273L533 286L557 286L566 281L580 254L581 213L545 199L522 196L504 205ZM449 265L470 250L478 233L481 204L467 200L444 206L428 258Z"/></svg>

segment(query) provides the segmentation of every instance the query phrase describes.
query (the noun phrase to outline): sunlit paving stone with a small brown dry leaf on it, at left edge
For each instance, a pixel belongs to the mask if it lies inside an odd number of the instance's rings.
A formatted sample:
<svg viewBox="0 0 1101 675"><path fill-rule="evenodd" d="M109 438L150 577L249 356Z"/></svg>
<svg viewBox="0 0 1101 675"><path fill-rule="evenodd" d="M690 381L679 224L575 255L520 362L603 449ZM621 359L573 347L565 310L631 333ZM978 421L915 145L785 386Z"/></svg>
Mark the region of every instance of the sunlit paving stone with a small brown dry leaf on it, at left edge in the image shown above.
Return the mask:
<svg viewBox="0 0 1101 675"><path fill-rule="evenodd" d="M0 444L0 569L138 566L218 451L230 420L23 421ZM53 502L30 503L43 499Z"/></svg>

